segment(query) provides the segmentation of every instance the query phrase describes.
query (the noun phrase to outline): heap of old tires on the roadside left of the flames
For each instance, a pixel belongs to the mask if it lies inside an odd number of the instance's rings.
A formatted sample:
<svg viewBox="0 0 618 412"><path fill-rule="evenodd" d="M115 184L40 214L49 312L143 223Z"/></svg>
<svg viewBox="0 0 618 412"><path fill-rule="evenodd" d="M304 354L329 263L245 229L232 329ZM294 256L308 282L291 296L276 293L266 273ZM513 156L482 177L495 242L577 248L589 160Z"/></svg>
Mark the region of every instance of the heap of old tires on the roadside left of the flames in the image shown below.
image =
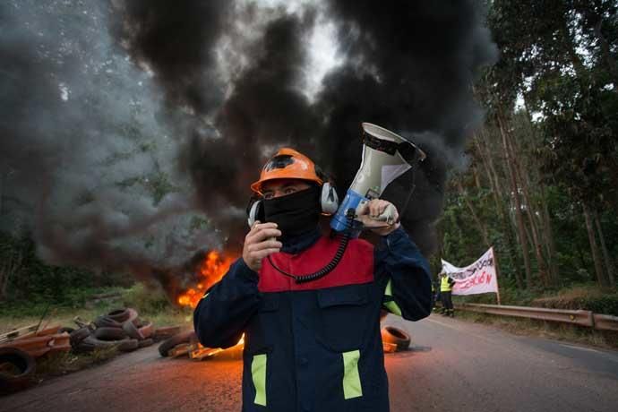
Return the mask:
<svg viewBox="0 0 618 412"><path fill-rule="evenodd" d="M99 316L90 325L68 330L75 352L91 352L98 348L116 348L131 352L152 345L152 322L142 322L132 308L118 309Z"/></svg>

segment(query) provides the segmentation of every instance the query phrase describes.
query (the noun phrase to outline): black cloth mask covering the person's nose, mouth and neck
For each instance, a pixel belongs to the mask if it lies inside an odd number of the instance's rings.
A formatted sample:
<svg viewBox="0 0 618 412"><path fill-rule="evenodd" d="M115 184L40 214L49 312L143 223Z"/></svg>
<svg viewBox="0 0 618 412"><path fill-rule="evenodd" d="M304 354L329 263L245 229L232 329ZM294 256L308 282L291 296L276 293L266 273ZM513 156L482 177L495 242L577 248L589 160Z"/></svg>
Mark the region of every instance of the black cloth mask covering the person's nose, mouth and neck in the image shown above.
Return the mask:
<svg viewBox="0 0 618 412"><path fill-rule="evenodd" d="M309 189L275 199L265 199L264 219L277 223L281 236L294 237L315 230L320 220L322 187Z"/></svg>

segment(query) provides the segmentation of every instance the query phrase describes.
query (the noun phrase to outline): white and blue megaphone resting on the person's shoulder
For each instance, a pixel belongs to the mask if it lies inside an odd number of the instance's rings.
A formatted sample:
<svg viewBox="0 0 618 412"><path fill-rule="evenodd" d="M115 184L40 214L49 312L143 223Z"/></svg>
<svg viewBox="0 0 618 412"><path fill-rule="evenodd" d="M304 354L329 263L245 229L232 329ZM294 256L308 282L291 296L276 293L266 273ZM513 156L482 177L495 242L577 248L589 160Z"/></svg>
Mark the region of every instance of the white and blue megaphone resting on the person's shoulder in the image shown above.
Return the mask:
<svg viewBox="0 0 618 412"><path fill-rule="evenodd" d="M338 232L351 230L358 236L364 227L359 211L372 199L382 196L386 186L406 173L416 161L425 160L425 152L412 142L375 124L363 125L363 159L356 177L330 220L330 227ZM384 225L395 223L395 210L387 208L373 220Z"/></svg>

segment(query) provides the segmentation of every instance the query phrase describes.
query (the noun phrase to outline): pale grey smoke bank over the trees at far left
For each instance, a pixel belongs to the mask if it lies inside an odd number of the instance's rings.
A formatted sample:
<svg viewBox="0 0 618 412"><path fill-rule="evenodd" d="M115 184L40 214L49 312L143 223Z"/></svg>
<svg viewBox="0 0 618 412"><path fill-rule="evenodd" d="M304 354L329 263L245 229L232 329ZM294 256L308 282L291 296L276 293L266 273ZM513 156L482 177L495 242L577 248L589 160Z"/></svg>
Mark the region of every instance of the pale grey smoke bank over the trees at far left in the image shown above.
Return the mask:
<svg viewBox="0 0 618 412"><path fill-rule="evenodd" d="M107 35L111 13L0 4L0 229L30 232L47 262L149 276L218 243L192 229L165 101Z"/></svg>

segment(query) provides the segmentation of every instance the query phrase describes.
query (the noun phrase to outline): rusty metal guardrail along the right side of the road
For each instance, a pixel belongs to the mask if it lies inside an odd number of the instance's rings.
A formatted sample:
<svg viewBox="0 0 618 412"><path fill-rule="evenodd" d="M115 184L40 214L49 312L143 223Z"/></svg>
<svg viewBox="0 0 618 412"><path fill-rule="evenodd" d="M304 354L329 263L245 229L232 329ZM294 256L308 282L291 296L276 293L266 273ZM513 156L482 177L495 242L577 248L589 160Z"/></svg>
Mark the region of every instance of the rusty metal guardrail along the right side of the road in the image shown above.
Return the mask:
<svg viewBox="0 0 618 412"><path fill-rule="evenodd" d="M618 316L597 314L590 311L547 309L545 307L504 306L504 305L457 305L459 310L477 313L490 313L502 316L536 319L539 321L571 323L598 330L618 330Z"/></svg>

